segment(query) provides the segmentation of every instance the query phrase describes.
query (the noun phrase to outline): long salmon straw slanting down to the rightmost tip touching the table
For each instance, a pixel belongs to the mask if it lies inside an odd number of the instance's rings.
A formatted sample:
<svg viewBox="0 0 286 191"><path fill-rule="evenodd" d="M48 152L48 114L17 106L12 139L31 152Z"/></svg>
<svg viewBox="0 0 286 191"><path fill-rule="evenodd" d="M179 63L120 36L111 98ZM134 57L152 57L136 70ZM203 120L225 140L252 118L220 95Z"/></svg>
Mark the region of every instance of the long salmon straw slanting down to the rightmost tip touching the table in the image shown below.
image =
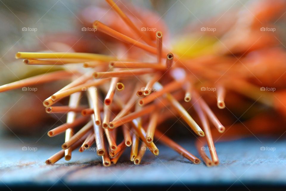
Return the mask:
<svg viewBox="0 0 286 191"><path fill-rule="evenodd" d="M209 122L208 122L208 119L206 118L206 115L205 113L203 113L203 110L198 102L198 98L195 97L195 100L192 100L192 104L195 108L195 111L197 112L199 118L200 118L200 121L203 125L203 130L204 130L204 133L206 135L206 141L208 143L208 146L209 146L209 153L212 157L212 161L214 162L215 165L218 165L219 164L219 160L218 160L218 157L217 157L217 152L216 152L216 149L215 149L215 144L214 144L214 141L212 139L212 133L211 133L211 129L209 127Z"/></svg>

